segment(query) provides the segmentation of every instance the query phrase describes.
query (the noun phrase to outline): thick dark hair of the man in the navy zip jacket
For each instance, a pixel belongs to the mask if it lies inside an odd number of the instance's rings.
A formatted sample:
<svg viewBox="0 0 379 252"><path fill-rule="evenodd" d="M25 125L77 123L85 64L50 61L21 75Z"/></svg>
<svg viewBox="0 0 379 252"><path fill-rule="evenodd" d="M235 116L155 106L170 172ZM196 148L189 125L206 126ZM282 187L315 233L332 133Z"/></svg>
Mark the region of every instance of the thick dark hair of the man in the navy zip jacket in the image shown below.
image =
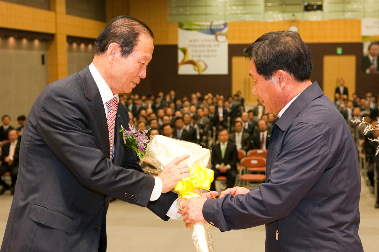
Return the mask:
<svg viewBox="0 0 379 252"><path fill-rule="evenodd" d="M310 50L300 35L292 31L263 34L245 50L245 56L266 80L280 69L299 82L309 80L312 73Z"/></svg>

